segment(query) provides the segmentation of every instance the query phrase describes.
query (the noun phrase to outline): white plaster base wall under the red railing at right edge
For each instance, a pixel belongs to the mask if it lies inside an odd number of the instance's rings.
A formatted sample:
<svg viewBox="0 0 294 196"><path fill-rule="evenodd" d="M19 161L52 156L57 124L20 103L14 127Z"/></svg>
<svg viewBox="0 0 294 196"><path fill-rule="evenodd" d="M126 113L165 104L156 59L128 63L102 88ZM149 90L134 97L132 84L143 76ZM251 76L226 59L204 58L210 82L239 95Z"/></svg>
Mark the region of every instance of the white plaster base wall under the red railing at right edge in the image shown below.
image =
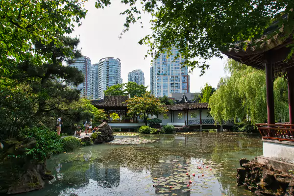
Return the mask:
<svg viewBox="0 0 294 196"><path fill-rule="evenodd" d="M294 164L294 144L263 141L263 156Z"/></svg>

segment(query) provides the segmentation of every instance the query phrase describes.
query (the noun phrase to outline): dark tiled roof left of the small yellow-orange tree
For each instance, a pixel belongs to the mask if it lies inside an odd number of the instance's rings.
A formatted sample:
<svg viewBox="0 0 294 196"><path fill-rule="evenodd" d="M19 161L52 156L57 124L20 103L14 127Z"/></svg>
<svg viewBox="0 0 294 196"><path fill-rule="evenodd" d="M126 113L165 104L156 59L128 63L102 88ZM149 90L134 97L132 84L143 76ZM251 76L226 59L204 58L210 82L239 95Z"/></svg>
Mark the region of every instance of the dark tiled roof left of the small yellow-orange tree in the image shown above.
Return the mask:
<svg viewBox="0 0 294 196"><path fill-rule="evenodd" d="M104 99L92 100L96 107L126 107L128 96L104 96Z"/></svg>

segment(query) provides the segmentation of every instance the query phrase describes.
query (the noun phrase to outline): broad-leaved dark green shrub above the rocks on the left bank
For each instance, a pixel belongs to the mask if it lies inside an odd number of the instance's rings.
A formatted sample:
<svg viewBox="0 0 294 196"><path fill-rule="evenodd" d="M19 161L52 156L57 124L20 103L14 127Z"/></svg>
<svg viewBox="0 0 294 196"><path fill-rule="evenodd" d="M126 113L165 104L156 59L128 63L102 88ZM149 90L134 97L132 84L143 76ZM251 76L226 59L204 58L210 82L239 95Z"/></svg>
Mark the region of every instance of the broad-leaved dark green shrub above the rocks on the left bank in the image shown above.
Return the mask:
<svg viewBox="0 0 294 196"><path fill-rule="evenodd" d="M52 153L63 151L62 139L56 132L44 127L25 128L20 131L20 137L35 138L36 146L27 149L26 155L31 155L39 161L45 160Z"/></svg>

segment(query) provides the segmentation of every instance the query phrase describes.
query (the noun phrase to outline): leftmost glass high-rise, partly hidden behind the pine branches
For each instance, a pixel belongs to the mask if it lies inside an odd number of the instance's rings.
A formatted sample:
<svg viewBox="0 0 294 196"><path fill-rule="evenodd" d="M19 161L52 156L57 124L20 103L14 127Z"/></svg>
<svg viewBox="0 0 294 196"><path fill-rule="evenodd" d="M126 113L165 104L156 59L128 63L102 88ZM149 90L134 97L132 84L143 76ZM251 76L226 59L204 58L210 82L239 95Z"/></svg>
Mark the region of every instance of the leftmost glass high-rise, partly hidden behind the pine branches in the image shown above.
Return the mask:
<svg viewBox="0 0 294 196"><path fill-rule="evenodd" d="M84 82L79 84L77 89L81 91L82 97L91 98L91 60L86 56L74 60L75 62L69 66L77 68L84 74Z"/></svg>

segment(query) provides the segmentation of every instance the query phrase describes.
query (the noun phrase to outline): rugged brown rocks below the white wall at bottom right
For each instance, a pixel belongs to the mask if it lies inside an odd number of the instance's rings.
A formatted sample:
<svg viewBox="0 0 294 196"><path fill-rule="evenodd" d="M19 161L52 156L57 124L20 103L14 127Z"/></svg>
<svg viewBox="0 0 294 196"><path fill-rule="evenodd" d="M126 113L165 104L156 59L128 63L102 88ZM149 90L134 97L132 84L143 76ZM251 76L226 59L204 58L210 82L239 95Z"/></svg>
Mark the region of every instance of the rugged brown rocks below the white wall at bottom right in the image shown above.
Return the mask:
<svg viewBox="0 0 294 196"><path fill-rule="evenodd" d="M240 159L237 185L246 186L257 196L294 196L294 175L274 170L257 160Z"/></svg>

